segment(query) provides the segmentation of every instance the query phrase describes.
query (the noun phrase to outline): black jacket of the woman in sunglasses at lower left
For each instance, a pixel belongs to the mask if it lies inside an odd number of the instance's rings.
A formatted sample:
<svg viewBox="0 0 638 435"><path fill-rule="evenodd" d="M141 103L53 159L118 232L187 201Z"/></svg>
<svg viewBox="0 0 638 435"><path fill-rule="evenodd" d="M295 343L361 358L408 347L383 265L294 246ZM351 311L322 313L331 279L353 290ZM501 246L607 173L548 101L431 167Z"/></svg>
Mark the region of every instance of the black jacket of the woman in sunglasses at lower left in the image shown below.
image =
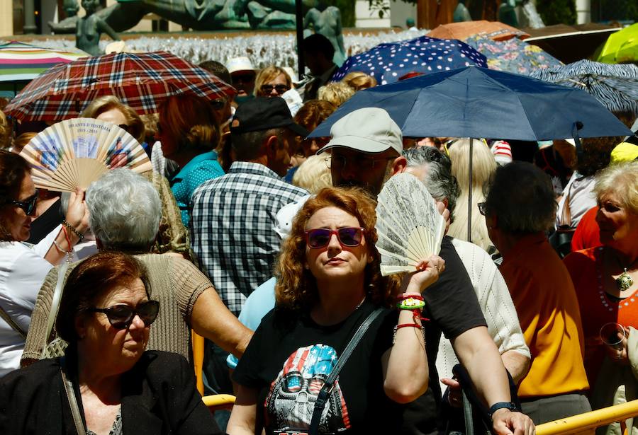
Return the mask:
<svg viewBox="0 0 638 435"><path fill-rule="evenodd" d="M68 369L74 372L72 366ZM84 416L77 380L74 390ZM222 433L195 388L193 369L184 356L172 352L144 352L123 374L121 412L124 434ZM0 434L75 433L60 359L43 359L0 379Z"/></svg>

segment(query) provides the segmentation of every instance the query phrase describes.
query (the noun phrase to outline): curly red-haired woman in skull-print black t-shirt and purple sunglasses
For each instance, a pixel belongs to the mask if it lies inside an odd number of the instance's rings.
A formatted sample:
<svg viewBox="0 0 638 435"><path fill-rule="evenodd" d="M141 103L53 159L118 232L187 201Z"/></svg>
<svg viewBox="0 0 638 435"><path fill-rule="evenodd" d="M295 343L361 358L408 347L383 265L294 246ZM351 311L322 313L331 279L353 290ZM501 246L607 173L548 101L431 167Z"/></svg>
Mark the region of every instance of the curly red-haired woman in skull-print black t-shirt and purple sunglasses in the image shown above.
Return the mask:
<svg viewBox="0 0 638 435"><path fill-rule="evenodd" d="M306 434L315 400L354 331L397 300L399 283L381 277L374 201L359 189L320 191L298 212L276 265L276 308L257 328L234 373L230 435ZM435 282L433 255L401 284L398 299ZM393 337L394 335L394 337ZM427 355L418 311L386 309L340 371L320 434L379 433L396 427L398 403L427 390Z"/></svg>

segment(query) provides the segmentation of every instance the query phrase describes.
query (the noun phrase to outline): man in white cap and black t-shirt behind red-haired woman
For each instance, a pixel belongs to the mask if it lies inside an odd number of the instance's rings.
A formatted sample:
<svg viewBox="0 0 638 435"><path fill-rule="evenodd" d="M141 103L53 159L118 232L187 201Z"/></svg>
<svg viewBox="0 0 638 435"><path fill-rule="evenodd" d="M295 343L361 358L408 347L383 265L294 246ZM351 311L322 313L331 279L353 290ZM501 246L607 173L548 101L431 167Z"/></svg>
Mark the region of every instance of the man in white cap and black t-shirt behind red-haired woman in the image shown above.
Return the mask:
<svg viewBox="0 0 638 435"><path fill-rule="evenodd" d="M330 173L335 186L358 185L376 196L386 180L404 172L408 166L401 155L401 129L383 109L362 108L345 115L332 125L330 136L332 139L318 154L332 153ZM431 319L425 325L430 388L421 398L405 405L403 427L397 433L425 435L443 429L439 415L441 390L435 366L443 332L452 342L479 395L490 407L493 431L505 435L517 429L516 434L532 434L531 419L516 412L511 402L503 361L488 334L471 280L451 238L444 238L439 255L445 260L446 271L423 293L424 315Z"/></svg>

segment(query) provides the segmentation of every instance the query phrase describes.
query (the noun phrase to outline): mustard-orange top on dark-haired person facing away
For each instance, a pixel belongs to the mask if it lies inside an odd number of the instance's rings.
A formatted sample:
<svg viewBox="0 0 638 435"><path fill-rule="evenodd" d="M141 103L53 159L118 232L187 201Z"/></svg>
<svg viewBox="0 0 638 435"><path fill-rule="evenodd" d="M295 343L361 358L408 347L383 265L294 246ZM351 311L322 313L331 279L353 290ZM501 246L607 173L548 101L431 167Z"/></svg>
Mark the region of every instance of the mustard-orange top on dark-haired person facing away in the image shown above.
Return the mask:
<svg viewBox="0 0 638 435"><path fill-rule="evenodd" d="M530 371L518 395L528 398L587 390L576 291L547 237L537 233L521 238L503 256L500 272L532 354Z"/></svg>

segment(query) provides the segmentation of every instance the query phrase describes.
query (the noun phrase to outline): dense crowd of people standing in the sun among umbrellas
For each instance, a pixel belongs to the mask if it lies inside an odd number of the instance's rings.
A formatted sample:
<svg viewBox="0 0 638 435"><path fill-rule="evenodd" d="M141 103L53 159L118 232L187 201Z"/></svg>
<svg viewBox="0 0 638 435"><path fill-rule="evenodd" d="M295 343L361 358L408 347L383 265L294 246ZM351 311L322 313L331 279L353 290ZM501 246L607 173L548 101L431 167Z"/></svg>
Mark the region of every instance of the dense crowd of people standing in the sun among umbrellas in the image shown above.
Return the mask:
<svg viewBox="0 0 638 435"><path fill-rule="evenodd" d="M638 398L636 137L578 156L569 140L404 138L362 108L309 138L377 86L332 82L319 36L310 80L239 57L201 64L232 98L90 102L78 115L125 129L153 170L86 191L36 189L19 153L45 126L0 112L1 433L458 434L463 388L493 433L531 435ZM376 197L398 173L447 235L384 277ZM196 390L192 332L230 415Z"/></svg>

